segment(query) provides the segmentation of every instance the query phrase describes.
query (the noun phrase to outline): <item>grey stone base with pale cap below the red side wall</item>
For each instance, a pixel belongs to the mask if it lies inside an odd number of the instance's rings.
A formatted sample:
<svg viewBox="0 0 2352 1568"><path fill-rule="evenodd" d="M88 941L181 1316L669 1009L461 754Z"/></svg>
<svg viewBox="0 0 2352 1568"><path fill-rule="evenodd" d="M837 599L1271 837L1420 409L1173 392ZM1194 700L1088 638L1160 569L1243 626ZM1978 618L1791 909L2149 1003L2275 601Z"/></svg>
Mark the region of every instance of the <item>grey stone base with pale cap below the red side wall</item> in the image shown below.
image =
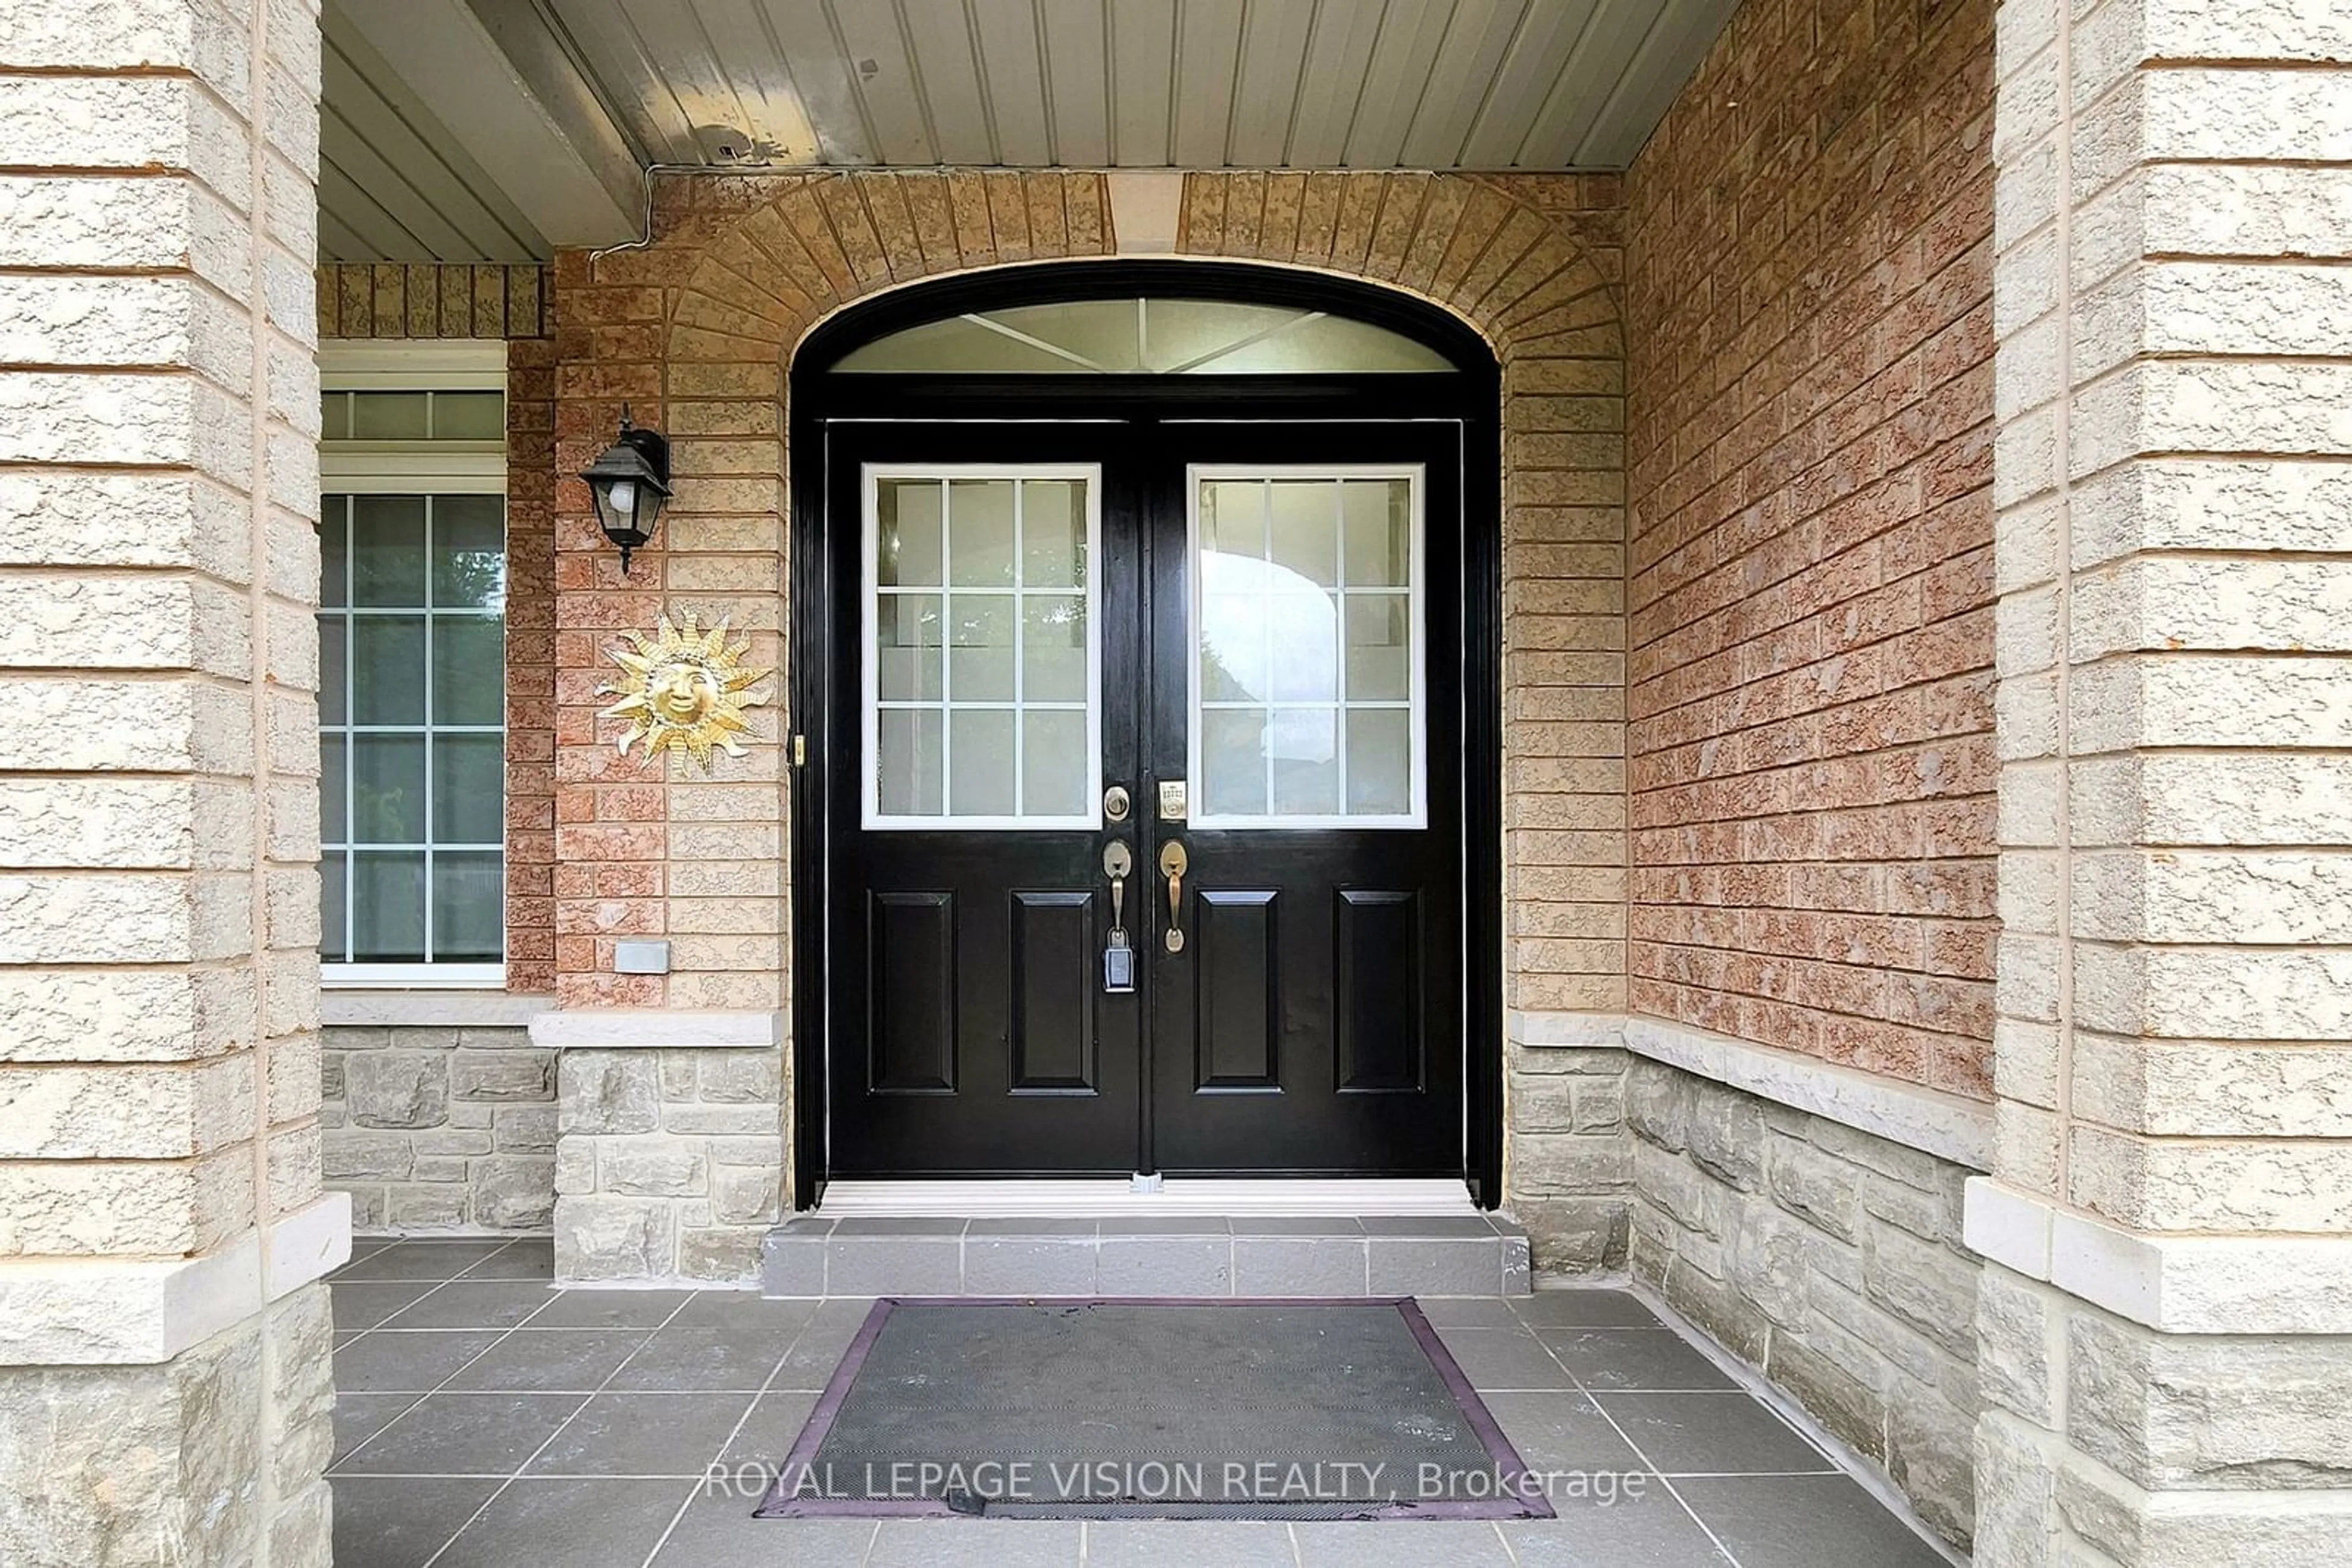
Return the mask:
<svg viewBox="0 0 2352 1568"><path fill-rule="evenodd" d="M1515 1013L1510 1034L1515 1093L1559 1060L1623 1095L1623 1185L1534 1204L1621 1206L1635 1281L1966 1547L1983 1262L1962 1222L1983 1166L1950 1154L1983 1159L1987 1110L1658 1018ZM1545 1248L1526 1206L1538 1274L1609 1267Z"/></svg>

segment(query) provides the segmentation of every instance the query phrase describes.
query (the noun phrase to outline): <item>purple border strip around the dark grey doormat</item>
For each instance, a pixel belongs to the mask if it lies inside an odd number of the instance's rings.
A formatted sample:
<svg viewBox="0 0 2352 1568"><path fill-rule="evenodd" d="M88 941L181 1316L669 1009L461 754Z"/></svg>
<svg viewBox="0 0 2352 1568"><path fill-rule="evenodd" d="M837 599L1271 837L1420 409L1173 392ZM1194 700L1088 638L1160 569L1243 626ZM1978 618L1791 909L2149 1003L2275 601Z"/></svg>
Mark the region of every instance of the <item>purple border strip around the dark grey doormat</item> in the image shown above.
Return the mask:
<svg viewBox="0 0 2352 1568"><path fill-rule="evenodd" d="M858 1326L856 1338L849 1340L849 1349L842 1352L842 1363L833 1368L833 1378L826 1380L826 1392L816 1396L816 1408L809 1410L807 1425L800 1436L793 1439L793 1450L783 1455L783 1465L776 1467L776 1479L769 1483L767 1495L760 1507L753 1509L753 1519L969 1519L971 1514L957 1514L946 1500L938 1497L800 1497L781 1495L786 1476L807 1474L807 1467L816 1462L816 1450L823 1446L826 1434L833 1432L835 1418L842 1413L842 1401L849 1399L849 1385L856 1382L858 1373L866 1368L866 1356L873 1354L875 1340L882 1335L882 1324L898 1307L1395 1307L1397 1316L1404 1319L1404 1328L1421 1345L1421 1354L1428 1356L1430 1366L1437 1368L1437 1378L1454 1394L1454 1406L1463 1413L1470 1432L1477 1434L1479 1443L1486 1448L1486 1458L1494 1460L1503 1486L1494 1497L1451 1497L1444 1502L1383 1502L1359 1512L1343 1514L1343 1519L1367 1521L1367 1519L1555 1519L1550 1497L1543 1488L1534 1488L1534 1495L1519 1495L1524 1490L1522 1476L1529 1474L1526 1460L1519 1450L1503 1436L1503 1427L1494 1420L1494 1410L1486 1401L1477 1396L1470 1378L1463 1373L1454 1352L1446 1342L1437 1338L1437 1328L1423 1316L1421 1302L1411 1295L882 1295L875 1300L873 1312ZM1035 1514L1023 1514L1035 1519ZM1237 1514L1240 1516L1240 1514ZM1122 1519L1138 1519L1136 1514L1122 1514ZM1148 1519L1148 1514L1143 1516ZM1185 1514L1185 1519L1197 1519L1197 1514Z"/></svg>

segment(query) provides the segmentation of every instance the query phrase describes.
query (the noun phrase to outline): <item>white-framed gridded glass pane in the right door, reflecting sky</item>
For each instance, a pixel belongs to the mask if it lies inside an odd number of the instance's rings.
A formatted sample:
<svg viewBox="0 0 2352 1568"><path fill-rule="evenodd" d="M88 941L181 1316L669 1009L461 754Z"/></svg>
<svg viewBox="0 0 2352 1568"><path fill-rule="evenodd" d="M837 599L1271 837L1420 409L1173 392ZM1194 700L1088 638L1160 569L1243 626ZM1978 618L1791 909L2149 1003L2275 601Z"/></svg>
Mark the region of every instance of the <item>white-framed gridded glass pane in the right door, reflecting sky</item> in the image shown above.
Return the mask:
<svg viewBox="0 0 2352 1568"><path fill-rule="evenodd" d="M1192 827L1425 827L1418 463L1185 480Z"/></svg>

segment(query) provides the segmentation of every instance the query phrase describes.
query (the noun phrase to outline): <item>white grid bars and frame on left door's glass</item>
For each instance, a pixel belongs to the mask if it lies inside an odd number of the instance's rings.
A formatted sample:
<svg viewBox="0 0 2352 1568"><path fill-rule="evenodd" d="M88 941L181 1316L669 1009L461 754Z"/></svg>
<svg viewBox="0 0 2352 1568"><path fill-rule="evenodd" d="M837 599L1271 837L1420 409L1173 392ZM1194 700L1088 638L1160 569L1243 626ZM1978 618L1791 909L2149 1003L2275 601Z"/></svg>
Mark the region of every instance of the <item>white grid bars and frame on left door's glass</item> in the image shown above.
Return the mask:
<svg viewBox="0 0 2352 1568"><path fill-rule="evenodd" d="M955 585L955 480L1009 480L1014 498L1011 562L1014 581ZM1028 576L1028 484L1077 484L1084 496L1084 538L1080 541L1077 583L1030 585ZM938 484L938 581L936 583L882 583L882 484ZM866 785L861 790L861 818L866 827L882 830L936 830L936 827L995 827L995 830L1070 830L1101 827L1103 792L1103 738L1101 738L1101 468L1094 463L936 463L891 465L868 463L863 470L863 745ZM1009 597L1014 602L1014 696L955 701L955 649L953 597ZM938 701L889 698L880 693L880 607L894 597L938 599ZM1028 616L1021 607L1028 599L1077 599L1087 618L1087 698L1084 701L1025 701L1028 686ZM936 816L884 813L882 811L882 715L884 712L936 712L938 715L938 804ZM1014 785L1011 813L957 816L955 813L955 724L957 712L1011 712L1014 715ZM1044 816L1025 811L1028 792L1028 722L1030 712L1084 712L1087 715L1087 790L1084 811L1070 816Z"/></svg>

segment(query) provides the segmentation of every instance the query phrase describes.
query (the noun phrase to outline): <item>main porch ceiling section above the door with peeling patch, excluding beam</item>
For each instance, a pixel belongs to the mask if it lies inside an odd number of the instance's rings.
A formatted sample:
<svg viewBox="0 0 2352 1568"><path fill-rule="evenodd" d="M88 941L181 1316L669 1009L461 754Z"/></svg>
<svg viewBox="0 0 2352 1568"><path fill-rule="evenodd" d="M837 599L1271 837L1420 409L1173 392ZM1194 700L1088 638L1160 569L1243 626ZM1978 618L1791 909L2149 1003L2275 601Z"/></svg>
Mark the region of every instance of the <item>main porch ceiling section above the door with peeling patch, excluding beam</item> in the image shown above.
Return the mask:
<svg viewBox="0 0 2352 1568"><path fill-rule="evenodd" d="M656 162L1616 169L1731 0L541 0Z"/></svg>

